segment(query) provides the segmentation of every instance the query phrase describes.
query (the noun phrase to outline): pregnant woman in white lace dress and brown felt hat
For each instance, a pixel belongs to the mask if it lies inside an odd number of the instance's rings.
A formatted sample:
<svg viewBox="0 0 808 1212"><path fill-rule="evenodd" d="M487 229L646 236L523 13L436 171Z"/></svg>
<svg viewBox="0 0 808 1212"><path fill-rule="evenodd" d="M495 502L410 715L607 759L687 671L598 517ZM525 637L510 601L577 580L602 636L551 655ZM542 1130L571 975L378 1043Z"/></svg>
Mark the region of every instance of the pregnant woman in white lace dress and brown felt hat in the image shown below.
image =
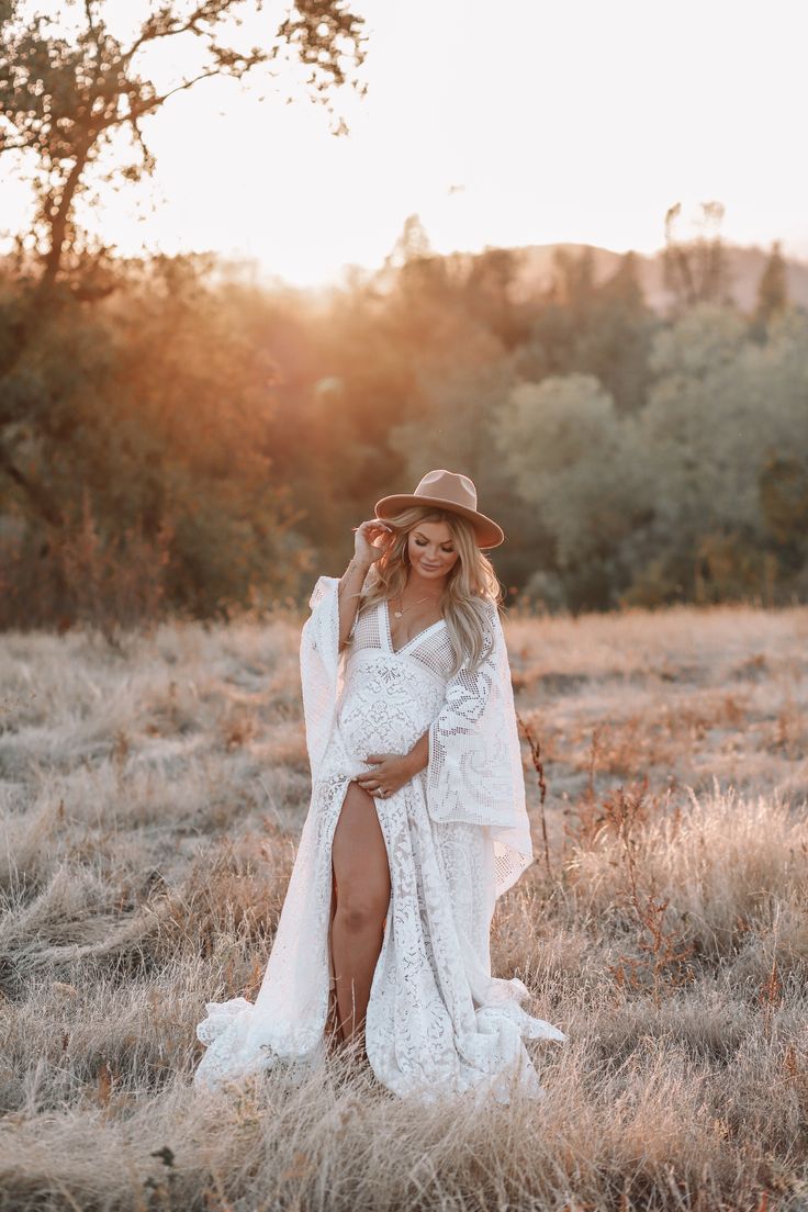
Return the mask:
<svg viewBox="0 0 808 1212"><path fill-rule="evenodd" d="M472 481L383 497L300 636L311 804L254 1005L208 1002L195 1084L327 1054L329 1010L377 1079L431 1099L540 1097L521 981L491 974L495 901L532 862L500 587Z"/></svg>

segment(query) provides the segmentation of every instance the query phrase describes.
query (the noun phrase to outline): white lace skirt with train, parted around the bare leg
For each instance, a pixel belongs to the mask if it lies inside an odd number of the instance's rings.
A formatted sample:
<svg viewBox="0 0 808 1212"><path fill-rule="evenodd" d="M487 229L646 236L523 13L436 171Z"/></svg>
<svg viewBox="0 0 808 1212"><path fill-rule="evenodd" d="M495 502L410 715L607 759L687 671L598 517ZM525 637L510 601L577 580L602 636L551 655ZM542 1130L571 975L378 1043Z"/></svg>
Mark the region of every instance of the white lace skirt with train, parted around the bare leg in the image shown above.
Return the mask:
<svg viewBox="0 0 808 1212"><path fill-rule="evenodd" d="M196 1028L207 1045L197 1088L279 1060L297 1081L325 1063L331 844L348 782L316 788L256 1002L206 1005ZM426 1102L472 1087L506 1102L512 1081L540 1098L523 1041L566 1036L522 1008L528 990L521 981L491 977L491 839L480 827L430 822L419 778L379 810L391 898L366 1021L371 1068L395 1093Z"/></svg>

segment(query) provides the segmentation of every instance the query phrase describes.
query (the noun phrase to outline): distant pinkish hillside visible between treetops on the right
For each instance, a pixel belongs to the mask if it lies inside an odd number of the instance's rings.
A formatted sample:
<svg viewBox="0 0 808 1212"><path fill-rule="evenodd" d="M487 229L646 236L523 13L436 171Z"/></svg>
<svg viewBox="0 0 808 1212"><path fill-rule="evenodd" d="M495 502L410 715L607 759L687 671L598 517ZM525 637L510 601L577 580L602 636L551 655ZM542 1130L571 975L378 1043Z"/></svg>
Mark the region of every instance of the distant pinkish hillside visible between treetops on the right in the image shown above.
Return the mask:
<svg viewBox="0 0 808 1212"><path fill-rule="evenodd" d="M525 285L529 284L533 288L550 285L552 281L552 255L556 248L580 253L585 247L585 244L541 244L518 250L525 258ZM614 273L621 253L612 252L609 248L598 248L594 245L590 247L594 253L596 281L602 281ZM757 284L768 256L768 250L727 245L733 298L738 307L745 311L755 307ZM641 252L635 253L635 257L637 258L637 271L648 305L657 311L666 311L671 297L663 285L661 250L651 257ZM808 308L808 264L786 258L786 265L791 301Z"/></svg>

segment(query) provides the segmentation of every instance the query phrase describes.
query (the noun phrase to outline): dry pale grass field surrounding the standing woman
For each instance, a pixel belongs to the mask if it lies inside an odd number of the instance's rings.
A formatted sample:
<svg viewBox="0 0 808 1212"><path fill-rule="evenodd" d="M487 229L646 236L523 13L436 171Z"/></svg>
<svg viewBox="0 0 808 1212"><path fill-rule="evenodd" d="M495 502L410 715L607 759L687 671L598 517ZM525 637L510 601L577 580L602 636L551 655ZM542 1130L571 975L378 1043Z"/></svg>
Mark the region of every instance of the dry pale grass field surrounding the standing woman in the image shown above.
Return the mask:
<svg viewBox="0 0 808 1212"><path fill-rule="evenodd" d="M808 1208L808 610L505 623L494 965L569 1040L485 1113L349 1062L193 1091L308 808L299 622L2 638L0 1210Z"/></svg>

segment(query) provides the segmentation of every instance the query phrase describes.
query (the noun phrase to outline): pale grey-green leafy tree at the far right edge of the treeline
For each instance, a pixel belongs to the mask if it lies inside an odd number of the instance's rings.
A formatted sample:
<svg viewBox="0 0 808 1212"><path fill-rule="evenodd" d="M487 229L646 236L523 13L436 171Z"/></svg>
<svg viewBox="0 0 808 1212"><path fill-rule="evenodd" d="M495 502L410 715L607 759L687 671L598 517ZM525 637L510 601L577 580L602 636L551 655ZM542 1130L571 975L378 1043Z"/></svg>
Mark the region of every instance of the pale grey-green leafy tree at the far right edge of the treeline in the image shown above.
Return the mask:
<svg viewBox="0 0 808 1212"><path fill-rule="evenodd" d="M657 335L637 418L654 508L636 536L635 600L761 591L764 553L801 499L790 461L808 451L807 337L796 310L760 343L738 310L707 303Z"/></svg>

